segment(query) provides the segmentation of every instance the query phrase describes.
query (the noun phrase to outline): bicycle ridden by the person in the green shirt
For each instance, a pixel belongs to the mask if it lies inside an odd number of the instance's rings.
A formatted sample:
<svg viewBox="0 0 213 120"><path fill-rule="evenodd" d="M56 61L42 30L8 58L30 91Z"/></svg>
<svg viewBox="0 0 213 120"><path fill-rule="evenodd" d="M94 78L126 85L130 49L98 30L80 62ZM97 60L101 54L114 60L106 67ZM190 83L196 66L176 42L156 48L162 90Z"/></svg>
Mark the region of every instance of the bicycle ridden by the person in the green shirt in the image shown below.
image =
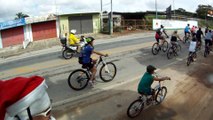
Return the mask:
<svg viewBox="0 0 213 120"><path fill-rule="evenodd" d="M155 86L154 91L154 100L149 98L151 95L140 94L140 96L129 105L127 109L128 117L137 117L143 109L162 103L166 97L167 88L161 86L161 81L159 81L158 85Z"/></svg>

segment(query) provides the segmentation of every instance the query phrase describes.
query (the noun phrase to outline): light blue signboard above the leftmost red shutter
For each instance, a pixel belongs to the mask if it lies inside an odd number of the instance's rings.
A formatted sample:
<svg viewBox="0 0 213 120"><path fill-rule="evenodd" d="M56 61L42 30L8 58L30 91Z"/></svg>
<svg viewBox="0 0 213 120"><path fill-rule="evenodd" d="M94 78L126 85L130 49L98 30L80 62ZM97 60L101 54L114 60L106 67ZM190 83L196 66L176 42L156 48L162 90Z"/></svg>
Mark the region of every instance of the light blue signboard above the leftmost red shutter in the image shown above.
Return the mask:
<svg viewBox="0 0 213 120"><path fill-rule="evenodd" d="M17 27L17 26L22 26L25 25L25 19L17 19L17 20L11 20L7 22L1 22L0 23L0 30L7 29L7 28L12 28L12 27Z"/></svg>

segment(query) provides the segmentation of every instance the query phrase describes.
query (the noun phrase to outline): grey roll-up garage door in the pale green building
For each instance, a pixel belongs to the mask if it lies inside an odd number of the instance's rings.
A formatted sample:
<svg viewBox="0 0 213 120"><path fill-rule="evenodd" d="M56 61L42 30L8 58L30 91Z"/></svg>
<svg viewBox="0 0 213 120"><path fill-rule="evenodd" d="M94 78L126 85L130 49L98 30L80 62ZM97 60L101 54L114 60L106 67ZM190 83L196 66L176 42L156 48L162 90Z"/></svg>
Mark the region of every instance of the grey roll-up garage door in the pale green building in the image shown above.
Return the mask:
<svg viewBox="0 0 213 120"><path fill-rule="evenodd" d="M69 28L76 29L77 34L93 33L92 16L71 16L69 17Z"/></svg>

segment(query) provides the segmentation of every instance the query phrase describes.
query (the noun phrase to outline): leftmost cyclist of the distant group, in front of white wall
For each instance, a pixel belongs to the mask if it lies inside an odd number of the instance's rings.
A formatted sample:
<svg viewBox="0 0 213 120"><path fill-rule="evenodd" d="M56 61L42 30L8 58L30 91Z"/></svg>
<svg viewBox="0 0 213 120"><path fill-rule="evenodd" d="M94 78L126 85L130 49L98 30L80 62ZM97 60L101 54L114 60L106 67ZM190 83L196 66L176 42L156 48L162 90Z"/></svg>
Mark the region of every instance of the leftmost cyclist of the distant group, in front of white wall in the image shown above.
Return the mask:
<svg viewBox="0 0 213 120"><path fill-rule="evenodd" d="M161 25L159 29L157 29L156 33L155 33L155 39L157 41L157 43L159 44L159 40L161 40L161 44L163 44L165 40L165 37L163 37L163 33L166 35L167 38L169 38L169 36L167 35L166 31L164 30L164 26Z"/></svg>

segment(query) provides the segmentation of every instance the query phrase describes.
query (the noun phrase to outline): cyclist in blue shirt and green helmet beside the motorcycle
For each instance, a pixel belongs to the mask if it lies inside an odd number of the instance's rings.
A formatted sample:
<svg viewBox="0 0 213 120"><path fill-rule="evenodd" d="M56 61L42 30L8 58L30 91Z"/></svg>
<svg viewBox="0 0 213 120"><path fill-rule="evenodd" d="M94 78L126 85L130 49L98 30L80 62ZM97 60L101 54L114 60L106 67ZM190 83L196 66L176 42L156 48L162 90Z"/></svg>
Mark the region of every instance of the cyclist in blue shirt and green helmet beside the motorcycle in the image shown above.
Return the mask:
<svg viewBox="0 0 213 120"><path fill-rule="evenodd" d="M101 56L108 56L108 54L103 54L103 53L100 53L98 51L94 51L94 38L93 37L88 37L86 38L86 46L84 47L84 49L82 50L82 64L83 64L83 67L85 68L89 68L91 73L92 73L92 76L90 77L90 80L89 80L89 84L93 87L93 84L95 82L95 74L97 72L97 68L95 66L95 63L96 63L96 59L92 59L91 58L91 55L93 53L97 54L97 55L101 55Z"/></svg>

